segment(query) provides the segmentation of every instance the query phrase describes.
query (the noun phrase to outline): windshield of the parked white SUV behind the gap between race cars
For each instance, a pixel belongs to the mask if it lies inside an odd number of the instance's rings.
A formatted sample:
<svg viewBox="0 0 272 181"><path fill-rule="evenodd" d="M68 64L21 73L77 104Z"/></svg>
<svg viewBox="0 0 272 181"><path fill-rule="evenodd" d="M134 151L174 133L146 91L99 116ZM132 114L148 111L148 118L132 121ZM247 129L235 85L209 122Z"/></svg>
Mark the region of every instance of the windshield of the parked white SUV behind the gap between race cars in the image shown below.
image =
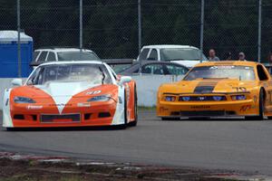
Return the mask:
<svg viewBox="0 0 272 181"><path fill-rule="evenodd" d="M200 51L197 49L181 49L181 48L169 48L162 49L160 51L160 57L163 61L184 61L192 60L197 61L200 59ZM206 61L205 56L203 56L204 61Z"/></svg>

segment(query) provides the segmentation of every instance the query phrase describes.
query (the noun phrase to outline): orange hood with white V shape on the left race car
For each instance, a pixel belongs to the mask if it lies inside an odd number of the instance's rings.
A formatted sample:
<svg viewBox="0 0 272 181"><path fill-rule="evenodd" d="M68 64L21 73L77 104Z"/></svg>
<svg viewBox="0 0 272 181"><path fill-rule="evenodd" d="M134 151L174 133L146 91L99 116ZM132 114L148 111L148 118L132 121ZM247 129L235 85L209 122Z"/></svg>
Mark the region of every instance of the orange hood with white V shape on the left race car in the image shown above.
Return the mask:
<svg viewBox="0 0 272 181"><path fill-rule="evenodd" d="M36 103L53 103L61 113L65 104L73 100L87 101L93 96L111 94L117 100L118 86L114 84L88 84L86 82L49 82L44 85L21 86L11 91L15 96L33 99Z"/></svg>

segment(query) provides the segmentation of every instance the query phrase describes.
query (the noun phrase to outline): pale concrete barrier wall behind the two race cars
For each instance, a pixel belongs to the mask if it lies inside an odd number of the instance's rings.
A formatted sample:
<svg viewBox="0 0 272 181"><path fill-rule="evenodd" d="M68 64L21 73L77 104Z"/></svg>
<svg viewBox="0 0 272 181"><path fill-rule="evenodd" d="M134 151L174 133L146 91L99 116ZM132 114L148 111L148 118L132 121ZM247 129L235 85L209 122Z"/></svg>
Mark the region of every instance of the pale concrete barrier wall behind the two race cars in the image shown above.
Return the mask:
<svg viewBox="0 0 272 181"><path fill-rule="evenodd" d="M157 90L161 83L180 81L183 78L176 75L133 75L131 77L137 84L138 106L143 107L156 106ZM0 101L3 101L4 90L12 87L12 80L13 78L0 78ZM3 102L0 102L0 110L2 108Z"/></svg>

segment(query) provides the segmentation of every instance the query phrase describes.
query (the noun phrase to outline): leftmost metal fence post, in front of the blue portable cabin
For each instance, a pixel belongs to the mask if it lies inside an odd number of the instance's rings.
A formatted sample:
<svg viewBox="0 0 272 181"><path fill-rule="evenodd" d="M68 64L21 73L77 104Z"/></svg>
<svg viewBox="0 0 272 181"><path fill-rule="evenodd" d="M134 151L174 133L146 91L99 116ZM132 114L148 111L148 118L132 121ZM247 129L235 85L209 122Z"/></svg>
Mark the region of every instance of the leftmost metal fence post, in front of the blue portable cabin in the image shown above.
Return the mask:
<svg viewBox="0 0 272 181"><path fill-rule="evenodd" d="M18 77L20 78L22 77L20 0L17 0L17 33Z"/></svg>

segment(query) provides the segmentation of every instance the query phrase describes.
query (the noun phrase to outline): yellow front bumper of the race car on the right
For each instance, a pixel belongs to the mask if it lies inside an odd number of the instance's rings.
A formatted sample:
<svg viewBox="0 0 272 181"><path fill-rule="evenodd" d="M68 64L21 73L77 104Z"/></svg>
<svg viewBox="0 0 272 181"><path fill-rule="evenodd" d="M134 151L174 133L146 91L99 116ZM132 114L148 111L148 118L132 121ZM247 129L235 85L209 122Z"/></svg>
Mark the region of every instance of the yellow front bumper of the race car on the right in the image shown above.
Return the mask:
<svg viewBox="0 0 272 181"><path fill-rule="evenodd" d="M257 116L258 104L254 100L170 102L160 100L159 117L243 117Z"/></svg>

